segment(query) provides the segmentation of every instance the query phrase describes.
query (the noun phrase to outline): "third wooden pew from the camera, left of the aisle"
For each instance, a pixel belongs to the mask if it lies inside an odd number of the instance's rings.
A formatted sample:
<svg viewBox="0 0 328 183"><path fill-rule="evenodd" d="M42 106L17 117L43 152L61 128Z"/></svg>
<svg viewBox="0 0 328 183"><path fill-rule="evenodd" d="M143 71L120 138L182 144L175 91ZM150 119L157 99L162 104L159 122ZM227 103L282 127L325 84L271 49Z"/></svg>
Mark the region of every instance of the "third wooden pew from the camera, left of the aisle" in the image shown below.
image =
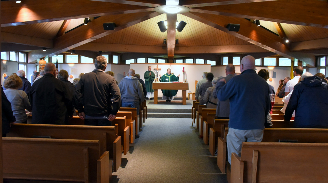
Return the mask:
<svg viewBox="0 0 328 183"><path fill-rule="evenodd" d="M136 108L135 108L136 109ZM116 135L122 137L123 153L126 155L130 148L130 126L126 126L125 117L116 117L112 121L112 126L116 127ZM73 116L69 125L84 125L84 120L78 116Z"/></svg>

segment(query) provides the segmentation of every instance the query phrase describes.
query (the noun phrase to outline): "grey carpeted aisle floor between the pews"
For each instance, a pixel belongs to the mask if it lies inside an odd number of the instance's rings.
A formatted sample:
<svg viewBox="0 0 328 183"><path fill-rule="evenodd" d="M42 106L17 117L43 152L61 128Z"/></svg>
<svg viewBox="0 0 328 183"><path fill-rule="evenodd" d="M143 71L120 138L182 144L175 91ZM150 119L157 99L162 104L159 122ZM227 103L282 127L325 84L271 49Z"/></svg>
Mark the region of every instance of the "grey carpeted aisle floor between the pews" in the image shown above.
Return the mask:
<svg viewBox="0 0 328 183"><path fill-rule="evenodd" d="M148 118L111 182L226 183L190 118ZM133 146L133 147L132 147Z"/></svg>

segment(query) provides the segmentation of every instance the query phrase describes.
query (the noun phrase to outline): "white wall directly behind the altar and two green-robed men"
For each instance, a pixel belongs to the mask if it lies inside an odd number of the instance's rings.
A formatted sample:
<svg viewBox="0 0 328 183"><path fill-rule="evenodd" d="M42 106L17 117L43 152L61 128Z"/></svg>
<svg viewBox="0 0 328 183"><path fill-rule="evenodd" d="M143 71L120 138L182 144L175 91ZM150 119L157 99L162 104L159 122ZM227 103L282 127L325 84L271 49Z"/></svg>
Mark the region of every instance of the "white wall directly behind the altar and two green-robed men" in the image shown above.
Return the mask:
<svg viewBox="0 0 328 183"><path fill-rule="evenodd" d="M154 69L156 68L157 65L158 65L158 69L161 69L161 71L158 72L161 75L167 73L167 69L171 69L171 72L174 72L175 76L178 76L180 74L179 82L184 82L185 76L187 75L187 82L189 83L189 91L191 92L195 92L195 81L196 80L199 81L200 79L202 79L202 73L211 71L210 64L131 63L131 68L135 70L136 74L140 74L140 78L142 80L145 80L144 75L145 72L147 71L148 66L151 66L152 71L154 72ZM185 75L182 75L183 67L185 68L184 70ZM156 74L156 72L154 73ZM181 95L182 95L182 91L179 90L176 96L181 97ZM162 96L162 91L158 91L158 96L159 97Z"/></svg>

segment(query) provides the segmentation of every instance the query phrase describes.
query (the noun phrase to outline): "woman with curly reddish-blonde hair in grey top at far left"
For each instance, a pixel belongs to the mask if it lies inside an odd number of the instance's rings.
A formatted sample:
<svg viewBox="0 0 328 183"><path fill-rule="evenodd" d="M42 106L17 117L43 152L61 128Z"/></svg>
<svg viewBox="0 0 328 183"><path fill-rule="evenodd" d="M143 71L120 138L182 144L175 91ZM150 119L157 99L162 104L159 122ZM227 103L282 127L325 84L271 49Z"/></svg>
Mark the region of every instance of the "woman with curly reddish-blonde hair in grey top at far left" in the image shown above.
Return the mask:
<svg viewBox="0 0 328 183"><path fill-rule="evenodd" d="M17 90L21 88L22 85L23 81L17 75L9 76L4 83L4 87L8 88L5 90L5 94L11 103L11 110L14 112L16 118L15 123L27 123L25 109L32 112L27 94L23 90Z"/></svg>

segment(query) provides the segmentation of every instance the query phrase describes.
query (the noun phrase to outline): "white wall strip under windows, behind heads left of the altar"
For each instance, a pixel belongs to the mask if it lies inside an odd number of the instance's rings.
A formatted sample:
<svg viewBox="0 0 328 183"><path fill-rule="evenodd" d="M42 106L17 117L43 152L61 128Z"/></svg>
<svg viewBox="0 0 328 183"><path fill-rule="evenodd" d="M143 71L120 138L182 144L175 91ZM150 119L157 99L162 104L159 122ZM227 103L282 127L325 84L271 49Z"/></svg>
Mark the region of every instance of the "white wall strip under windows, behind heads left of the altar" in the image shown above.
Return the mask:
<svg viewBox="0 0 328 183"><path fill-rule="evenodd" d="M75 78L78 78L80 73L88 73L93 71L94 64L58 64L59 70L66 70L69 72L69 75L73 75L73 78L68 78L70 82L73 82ZM70 72L71 69L71 72ZM114 64L108 64L106 71L113 71L114 72L114 78L119 83L123 78L123 72L128 73L130 69L129 65L114 65Z"/></svg>

